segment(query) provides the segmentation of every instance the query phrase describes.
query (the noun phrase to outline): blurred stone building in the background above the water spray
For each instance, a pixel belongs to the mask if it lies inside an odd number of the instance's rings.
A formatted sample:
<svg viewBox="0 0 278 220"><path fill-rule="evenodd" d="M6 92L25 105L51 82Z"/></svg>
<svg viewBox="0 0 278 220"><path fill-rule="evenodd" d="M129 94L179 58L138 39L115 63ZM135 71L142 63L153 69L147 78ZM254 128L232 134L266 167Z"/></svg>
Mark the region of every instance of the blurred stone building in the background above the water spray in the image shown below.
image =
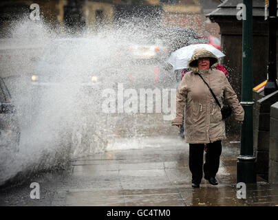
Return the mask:
<svg viewBox="0 0 278 220"><path fill-rule="evenodd" d="M0 2L0 36L9 36L10 23L25 16L29 17L28 0ZM198 34L210 33L217 36L219 26L207 21L198 0L38 0L40 15L52 25L61 25L70 30L97 30L103 25L111 25L125 14L159 14L159 23L164 26L193 28ZM129 16L131 17L131 16Z"/></svg>

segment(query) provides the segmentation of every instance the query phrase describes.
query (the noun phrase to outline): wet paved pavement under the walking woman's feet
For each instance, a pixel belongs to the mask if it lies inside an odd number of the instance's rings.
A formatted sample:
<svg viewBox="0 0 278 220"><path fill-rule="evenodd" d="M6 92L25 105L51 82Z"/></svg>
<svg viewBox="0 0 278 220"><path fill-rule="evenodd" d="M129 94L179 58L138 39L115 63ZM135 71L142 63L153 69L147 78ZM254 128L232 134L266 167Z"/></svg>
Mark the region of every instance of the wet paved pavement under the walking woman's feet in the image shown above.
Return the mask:
<svg viewBox="0 0 278 220"><path fill-rule="evenodd" d="M238 146L224 144L218 186L202 180L191 188L189 146L178 136L136 137L110 144L130 144L76 158L70 170L44 173L24 186L1 190L1 206L278 206L278 184L258 177L237 199ZM30 199L30 183L40 185L40 199Z"/></svg>

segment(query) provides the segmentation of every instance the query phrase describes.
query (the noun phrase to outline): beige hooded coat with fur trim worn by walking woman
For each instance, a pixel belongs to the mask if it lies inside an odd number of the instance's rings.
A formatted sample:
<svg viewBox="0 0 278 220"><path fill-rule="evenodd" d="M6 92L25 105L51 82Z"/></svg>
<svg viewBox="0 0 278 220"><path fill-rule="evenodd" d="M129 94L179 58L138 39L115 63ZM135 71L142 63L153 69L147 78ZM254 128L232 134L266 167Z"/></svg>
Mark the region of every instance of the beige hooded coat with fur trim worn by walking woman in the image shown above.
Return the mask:
<svg viewBox="0 0 278 220"><path fill-rule="evenodd" d="M200 57L210 58L211 69L197 68L197 59ZM191 60L189 60L189 67L193 71L184 75L178 87L176 117L172 121L172 125L182 125L184 116L185 142L187 143L209 143L226 139L225 121L222 120L220 107L202 78L196 74L197 72L211 87L221 106L226 100L233 109L235 120L244 120L244 109L239 104L237 95L228 83L226 76L220 70L213 69L217 62L217 57L211 52L203 48L202 50L195 50Z"/></svg>

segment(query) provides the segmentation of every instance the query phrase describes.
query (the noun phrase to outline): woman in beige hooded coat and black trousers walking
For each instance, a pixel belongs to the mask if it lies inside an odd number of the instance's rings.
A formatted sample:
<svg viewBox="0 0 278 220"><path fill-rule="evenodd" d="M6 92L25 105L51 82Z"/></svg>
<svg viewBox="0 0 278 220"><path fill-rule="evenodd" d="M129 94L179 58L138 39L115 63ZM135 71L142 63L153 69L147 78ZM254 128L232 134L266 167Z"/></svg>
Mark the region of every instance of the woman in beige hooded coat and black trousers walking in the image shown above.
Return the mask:
<svg viewBox="0 0 278 220"><path fill-rule="evenodd" d="M213 69L217 63L218 59L214 54L204 48L196 49L189 60L192 71L184 75L176 94L176 117L172 125L182 126L184 117L184 139L189 143L189 169L193 188L200 187L202 181L205 145L204 178L212 185L218 184L215 175L220 165L221 141L226 139L221 109L208 86L221 106L224 100L228 102L235 120L241 123L244 120L244 109L226 76L220 70Z"/></svg>

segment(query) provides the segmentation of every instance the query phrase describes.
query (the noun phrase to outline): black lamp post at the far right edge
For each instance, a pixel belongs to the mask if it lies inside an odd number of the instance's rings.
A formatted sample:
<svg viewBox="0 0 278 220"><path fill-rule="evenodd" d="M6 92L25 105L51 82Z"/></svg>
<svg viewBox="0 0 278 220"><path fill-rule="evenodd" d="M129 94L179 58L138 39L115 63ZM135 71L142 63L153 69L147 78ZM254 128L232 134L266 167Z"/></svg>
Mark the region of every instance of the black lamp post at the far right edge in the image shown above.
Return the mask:
<svg viewBox="0 0 278 220"><path fill-rule="evenodd" d="M264 87L264 95L267 96L278 90L276 83L276 31L277 31L277 0L268 0L268 82ZM267 5L266 5L267 6Z"/></svg>

